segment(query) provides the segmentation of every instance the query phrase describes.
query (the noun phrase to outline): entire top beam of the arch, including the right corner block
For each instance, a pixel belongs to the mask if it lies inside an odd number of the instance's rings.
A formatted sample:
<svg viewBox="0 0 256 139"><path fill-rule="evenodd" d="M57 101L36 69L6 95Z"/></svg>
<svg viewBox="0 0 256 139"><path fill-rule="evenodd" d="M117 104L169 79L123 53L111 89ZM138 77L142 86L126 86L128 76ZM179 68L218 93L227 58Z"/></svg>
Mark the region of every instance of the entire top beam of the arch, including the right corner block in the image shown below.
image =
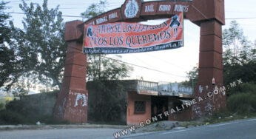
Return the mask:
<svg viewBox="0 0 256 139"><path fill-rule="evenodd" d="M90 18L85 24L107 24L116 21L138 22L170 18L183 11L184 18L200 25L201 21L215 19L225 24L223 0L141 1L126 0L120 8Z"/></svg>

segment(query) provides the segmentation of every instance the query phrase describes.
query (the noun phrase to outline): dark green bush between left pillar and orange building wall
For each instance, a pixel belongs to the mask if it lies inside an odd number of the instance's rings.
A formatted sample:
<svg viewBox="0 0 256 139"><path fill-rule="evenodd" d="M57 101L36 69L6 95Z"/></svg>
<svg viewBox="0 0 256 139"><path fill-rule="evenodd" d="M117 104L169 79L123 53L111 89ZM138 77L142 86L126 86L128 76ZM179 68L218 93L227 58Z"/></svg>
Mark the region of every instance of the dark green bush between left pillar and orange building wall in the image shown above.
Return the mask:
<svg viewBox="0 0 256 139"><path fill-rule="evenodd" d="M122 121L126 115L126 95L124 85L120 81L92 81L87 89L93 90L88 104L90 121Z"/></svg>

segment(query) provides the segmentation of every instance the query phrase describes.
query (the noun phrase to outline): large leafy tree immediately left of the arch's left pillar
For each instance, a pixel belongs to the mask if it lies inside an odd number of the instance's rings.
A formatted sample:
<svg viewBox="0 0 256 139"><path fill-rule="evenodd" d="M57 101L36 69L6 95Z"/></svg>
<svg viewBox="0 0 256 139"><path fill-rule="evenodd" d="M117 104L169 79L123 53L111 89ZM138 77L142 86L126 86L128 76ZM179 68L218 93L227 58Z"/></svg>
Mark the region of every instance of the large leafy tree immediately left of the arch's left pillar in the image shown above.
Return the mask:
<svg viewBox="0 0 256 139"><path fill-rule="evenodd" d="M26 16L22 21L24 30L16 37L17 58L24 70L16 78L29 78L28 84L60 88L67 50L62 13L58 7L49 10L47 0L42 6L32 2L29 6L23 0L19 7Z"/></svg>

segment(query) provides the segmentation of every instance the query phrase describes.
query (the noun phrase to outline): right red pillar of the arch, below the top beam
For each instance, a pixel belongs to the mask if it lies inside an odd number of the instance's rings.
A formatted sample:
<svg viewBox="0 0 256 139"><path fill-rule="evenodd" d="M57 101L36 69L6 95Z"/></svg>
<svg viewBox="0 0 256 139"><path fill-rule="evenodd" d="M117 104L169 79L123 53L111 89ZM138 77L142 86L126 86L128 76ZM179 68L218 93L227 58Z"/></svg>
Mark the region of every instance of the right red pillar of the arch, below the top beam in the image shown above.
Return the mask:
<svg viewBox="0 0 256 139"><path fill-rule="evenodd" d="M192 107L194 118L226 109L226 92L220 91L223 87L221 31L221 24L215 19L201 22L198 87L195 89L198 104ZM215 84L212 84L212 78L215 78Z"/></svg>

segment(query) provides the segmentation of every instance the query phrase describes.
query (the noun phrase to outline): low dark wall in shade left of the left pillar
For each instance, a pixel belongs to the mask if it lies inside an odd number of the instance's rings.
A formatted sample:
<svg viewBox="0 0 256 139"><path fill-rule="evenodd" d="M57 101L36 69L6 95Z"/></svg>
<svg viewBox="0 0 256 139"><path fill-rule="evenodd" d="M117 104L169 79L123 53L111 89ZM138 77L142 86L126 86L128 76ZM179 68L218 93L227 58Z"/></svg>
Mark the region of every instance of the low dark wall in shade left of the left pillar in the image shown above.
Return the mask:
<svg viewBox="0 0 256 139"><path fill-rule="evenodd" d="M21 96L20 101L27 110L31 110L40 116L53 116L58 92L47 92L34 95Z"/></svg>

